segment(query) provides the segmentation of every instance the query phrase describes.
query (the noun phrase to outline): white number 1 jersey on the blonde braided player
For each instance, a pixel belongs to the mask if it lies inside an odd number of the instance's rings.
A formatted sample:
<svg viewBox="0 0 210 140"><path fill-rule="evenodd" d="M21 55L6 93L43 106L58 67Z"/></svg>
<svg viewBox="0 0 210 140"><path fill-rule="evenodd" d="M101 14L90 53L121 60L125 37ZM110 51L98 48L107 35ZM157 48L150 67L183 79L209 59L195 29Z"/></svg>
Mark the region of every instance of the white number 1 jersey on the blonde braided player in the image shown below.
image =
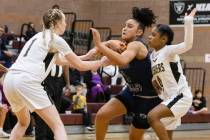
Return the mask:
<svg viewBox="0 0 210 140"><path fill-rule="evenodd" d="M10 70L30 73L38 81L43 81L55 63L58 53L65 55L70 52L72 50L63 38L53 33L51 41L51 31L45 30L45 39L43 32L39 32L26 42ZM49 53L54 55L51 55L51 61L46 63L45 59L49 57Z"/></svg>

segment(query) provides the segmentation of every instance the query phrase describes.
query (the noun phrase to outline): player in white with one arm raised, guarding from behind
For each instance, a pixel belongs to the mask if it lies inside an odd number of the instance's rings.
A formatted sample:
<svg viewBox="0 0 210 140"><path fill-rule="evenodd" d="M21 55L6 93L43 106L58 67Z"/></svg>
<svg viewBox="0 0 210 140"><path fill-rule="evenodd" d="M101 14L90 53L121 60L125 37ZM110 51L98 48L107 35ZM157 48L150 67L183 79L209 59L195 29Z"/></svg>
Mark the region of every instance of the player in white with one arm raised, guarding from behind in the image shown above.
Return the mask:
<svg viewBox="0 0 210 140"><path fill-rule="evenodd" d="M196 9L193 9L184 17L183 43L170 45L174 33L168 25L157 25L149 36L148 44L154 48L150 57L152 82L163 102L149 112L148 120L160 140L172 139L172 131L167 134L166 129L168 132L174 130L192 105L192 93L183 75L178 55L192 48L195 13Z"/></svg>

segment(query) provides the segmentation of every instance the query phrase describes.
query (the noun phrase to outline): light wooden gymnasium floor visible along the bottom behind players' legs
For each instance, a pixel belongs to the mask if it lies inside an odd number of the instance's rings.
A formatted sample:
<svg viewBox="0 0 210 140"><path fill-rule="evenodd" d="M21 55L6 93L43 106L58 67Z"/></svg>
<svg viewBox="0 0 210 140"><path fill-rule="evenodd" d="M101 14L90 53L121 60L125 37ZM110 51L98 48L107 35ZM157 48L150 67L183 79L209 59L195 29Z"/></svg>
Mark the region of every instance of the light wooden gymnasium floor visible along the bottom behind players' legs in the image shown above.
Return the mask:
<svg viewBox="0 0 210 140"><path fill-rule="evenodd" d="M210 140L210 130L175 131L174 140ZM6 140L6 138L0 138ZM34 140L25 137L23 140ZM71 134L69 140L94 140L94 134ZM106 140L128 140L128 133L108 133ZM153 132L147 132L145 140L156 140Z"/></svg>

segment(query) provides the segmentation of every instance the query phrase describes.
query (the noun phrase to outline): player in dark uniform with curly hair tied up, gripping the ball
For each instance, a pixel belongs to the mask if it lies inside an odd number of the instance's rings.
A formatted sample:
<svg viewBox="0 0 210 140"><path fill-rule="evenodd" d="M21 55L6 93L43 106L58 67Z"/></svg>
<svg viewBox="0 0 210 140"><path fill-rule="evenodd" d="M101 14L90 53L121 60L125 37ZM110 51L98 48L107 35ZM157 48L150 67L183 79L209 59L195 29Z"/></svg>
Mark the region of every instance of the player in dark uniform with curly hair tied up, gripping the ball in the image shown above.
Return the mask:
<svg viewBox="0 0 210 140"><path fill-rule="evenodd" d="M122 29L121 37L127 49L121 54L101 43L99 32L92 29L97 49L108 58L110 64L120 66L120 72L127 82L126 89L97 112L96 140L104 140L110 120L129 112L134 114L129 139L143 139L145 130L150 127L147 114L161 102L152 86L150 56L143 41L145 28L155 23L156 17L149 8L134 7L132 13L133 17L125 22L125 27ZM108 42L116 45L112 41Z"/></svg>

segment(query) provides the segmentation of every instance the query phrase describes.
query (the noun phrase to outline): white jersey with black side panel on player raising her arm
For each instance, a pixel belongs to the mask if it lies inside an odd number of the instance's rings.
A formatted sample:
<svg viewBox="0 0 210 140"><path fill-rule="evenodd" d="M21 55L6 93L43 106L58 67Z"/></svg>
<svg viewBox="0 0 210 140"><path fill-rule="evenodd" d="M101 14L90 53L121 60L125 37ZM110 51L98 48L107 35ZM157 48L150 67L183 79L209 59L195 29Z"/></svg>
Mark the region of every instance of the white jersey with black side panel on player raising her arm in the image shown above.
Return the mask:
<svg viewBox="0 0 210 140"><path fill-rule="evenodd" d="M188 83L183 74L178 54L192 48L193 17L185 17L184 42L177 45L167 45L158 51L153 51L150 58L152 63L153 86L163 100L178 94L189 93ZM191 96L191 95L189 95Z"/></svg>

